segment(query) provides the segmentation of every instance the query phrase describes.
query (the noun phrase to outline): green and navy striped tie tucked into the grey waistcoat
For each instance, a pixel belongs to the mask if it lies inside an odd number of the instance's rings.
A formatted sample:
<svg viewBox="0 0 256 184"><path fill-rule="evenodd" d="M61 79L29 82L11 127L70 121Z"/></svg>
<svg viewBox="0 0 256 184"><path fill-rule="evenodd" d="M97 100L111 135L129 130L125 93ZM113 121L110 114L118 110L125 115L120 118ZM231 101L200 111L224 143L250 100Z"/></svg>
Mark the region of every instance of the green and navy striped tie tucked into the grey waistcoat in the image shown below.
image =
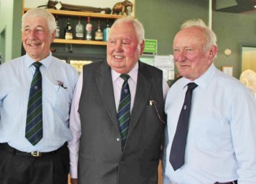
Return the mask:
<svg viewBox="0 0 256 184"><path fill-rule="evenodd" d="M128 84L128 79L130 76L124 74L121 74L120 76L122 79L124 79L124 83L121 89L121 98L118 106L117 120L119 123L121 145L123 150L130 122L131 94Z"/></svg>

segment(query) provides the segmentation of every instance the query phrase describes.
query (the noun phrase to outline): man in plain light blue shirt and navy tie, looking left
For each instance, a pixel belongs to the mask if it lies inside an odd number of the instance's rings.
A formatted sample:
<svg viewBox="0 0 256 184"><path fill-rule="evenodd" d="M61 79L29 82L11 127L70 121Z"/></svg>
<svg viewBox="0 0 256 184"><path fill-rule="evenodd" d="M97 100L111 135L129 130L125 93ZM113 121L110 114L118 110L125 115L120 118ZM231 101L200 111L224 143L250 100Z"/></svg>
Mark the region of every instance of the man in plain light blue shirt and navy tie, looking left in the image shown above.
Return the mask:
<svg viewBox="0 0 256 184"><path fill-rule="evenodd" d="M256 183L256 101L239 80L215 68L216 40L202 20L189 20L173 41L183 78L171 86L165 101L164 184ZM184 164L173 169L169 158L171 149L177 149L173 139L191 82L198 86L192 94Z"/></svg>

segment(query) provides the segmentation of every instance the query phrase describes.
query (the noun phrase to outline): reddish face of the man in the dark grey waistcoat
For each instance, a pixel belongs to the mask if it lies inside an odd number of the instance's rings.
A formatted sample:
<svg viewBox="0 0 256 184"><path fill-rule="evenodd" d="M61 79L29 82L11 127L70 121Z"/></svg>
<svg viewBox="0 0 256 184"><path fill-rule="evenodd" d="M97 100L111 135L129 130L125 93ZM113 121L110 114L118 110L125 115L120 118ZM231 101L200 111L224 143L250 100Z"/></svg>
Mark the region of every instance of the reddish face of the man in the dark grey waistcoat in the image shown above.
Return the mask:
<svg viewBox="0 0 256 184"><path fill-rule="evenodd" d="M114 71L127 74L139 61L144 41L139 43L132 24L114 24L107 43L107 63Z"/></svg>

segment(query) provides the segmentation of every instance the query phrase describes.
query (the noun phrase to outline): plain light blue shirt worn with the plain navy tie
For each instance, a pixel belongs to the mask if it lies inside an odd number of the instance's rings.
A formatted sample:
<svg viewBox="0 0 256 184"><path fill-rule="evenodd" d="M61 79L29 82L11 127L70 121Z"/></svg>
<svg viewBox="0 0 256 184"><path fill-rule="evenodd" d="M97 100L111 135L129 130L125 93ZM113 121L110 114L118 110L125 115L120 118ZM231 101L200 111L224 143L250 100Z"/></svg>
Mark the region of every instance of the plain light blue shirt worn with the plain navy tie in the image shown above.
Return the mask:
<svg viewBox="0 0 256 184"><path fill-rule="evenodd" d="M167 129L163 183L256 183L256 100L239 80L212 64L193 90L185 164L173 171L169 153L188 79L179 79L165 101Z"/></svg>

